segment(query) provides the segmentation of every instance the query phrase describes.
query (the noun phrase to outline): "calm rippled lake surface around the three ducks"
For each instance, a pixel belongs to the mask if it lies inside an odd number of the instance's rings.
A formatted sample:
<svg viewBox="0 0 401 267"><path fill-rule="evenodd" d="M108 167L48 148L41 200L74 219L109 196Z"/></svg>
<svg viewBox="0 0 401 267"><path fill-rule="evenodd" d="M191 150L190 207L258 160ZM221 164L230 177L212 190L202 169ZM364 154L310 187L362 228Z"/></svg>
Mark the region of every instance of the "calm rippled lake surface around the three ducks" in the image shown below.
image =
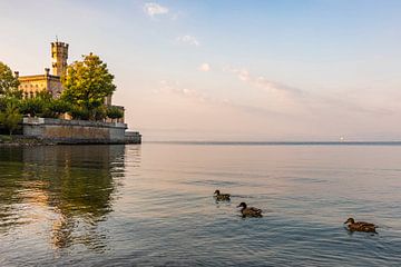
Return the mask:
<svg viewBox="0 0 401 267"><path fill-rule="evenodd" d="M55 265L401 266L401 146L0 147L0 266Z"/></svg>

